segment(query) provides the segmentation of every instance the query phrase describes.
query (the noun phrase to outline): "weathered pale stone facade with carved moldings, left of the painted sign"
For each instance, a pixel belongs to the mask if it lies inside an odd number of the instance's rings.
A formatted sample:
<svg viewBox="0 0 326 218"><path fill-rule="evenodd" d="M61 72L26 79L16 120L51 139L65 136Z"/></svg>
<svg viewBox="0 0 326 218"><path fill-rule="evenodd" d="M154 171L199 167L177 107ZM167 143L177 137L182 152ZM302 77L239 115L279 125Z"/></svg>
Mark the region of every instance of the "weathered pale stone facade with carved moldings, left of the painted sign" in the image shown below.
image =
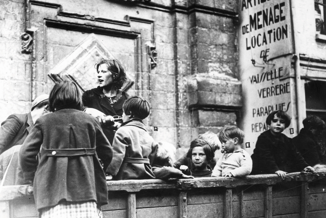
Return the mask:
<svg viewBox="0 0 326 218"><path fill-rule="evenodd" d="M130 95L151 105L156 141L183 153L193 138L236 124L236 0L1 0L1 120L24 113L54 81L96 87L95 63L125 66ZM154 131L157 127L157 131Z"/></svg>

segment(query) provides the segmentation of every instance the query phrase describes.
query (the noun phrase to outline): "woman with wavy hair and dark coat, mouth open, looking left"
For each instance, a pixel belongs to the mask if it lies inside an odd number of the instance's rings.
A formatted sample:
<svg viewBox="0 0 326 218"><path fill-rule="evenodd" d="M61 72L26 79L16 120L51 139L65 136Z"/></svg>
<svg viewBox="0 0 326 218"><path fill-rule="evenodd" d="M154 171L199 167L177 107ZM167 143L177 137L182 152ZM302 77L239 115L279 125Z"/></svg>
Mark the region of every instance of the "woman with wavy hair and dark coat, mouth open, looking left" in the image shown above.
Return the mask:
<svg viewBox="0 0 326 218"><path fill-rule="evenodd" d="M84 92L82 95L83 105L97 109L103 115L122 116L122 105L129 97L126 92L120 90L127 80L125 67L116 59L102 58L96 63L95 68L99 86ZM102 117L103 119L104 117ZM115 123L114 126L103 127L103 132L111 144L114 130L119 126L119 123Z"/></svg>

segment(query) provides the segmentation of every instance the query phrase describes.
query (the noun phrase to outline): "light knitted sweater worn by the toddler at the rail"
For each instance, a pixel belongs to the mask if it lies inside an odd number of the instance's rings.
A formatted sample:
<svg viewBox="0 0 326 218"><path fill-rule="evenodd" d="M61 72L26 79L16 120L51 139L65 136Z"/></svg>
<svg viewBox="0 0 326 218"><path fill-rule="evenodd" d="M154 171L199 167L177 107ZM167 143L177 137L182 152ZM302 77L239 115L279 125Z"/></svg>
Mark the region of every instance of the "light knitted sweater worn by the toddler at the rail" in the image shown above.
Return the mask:
<svg viewBox="0 0 326 218"><path fill-rule="evenodd" d="M252 160L243 149L234 153L225 153L218 159L212 176L224 176L229 172L233 177L243 177L251 173Z"/></svg>

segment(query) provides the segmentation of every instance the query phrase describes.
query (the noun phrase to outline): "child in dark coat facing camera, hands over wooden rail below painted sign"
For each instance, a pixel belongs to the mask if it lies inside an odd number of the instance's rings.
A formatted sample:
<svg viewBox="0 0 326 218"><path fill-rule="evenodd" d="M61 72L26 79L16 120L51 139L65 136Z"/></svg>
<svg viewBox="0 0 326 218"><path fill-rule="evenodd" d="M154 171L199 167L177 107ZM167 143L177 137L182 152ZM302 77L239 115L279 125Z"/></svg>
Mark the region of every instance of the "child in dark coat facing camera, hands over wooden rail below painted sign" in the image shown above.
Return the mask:
<svg viewBox="0 0 326 218"><path fill-rule="evenodd" d="M270 129L261 133L256 142L256 148L251 155L251 174L272 174L285 179L287 173L301 170L314 171L291 143L291 139L282 132L288 128L291 118L283 110L270 113L266 124Z"/></svg>

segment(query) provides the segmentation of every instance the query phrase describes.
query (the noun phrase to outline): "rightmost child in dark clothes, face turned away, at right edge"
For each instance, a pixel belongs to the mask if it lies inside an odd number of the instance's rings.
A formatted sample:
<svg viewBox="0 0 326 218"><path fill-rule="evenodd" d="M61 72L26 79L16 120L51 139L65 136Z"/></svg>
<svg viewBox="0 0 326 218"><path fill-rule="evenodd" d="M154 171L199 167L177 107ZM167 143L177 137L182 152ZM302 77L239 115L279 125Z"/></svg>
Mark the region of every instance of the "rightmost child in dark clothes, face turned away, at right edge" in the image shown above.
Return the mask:
<svg viewBox="0 0 326 218"><path fill-rule="evenodd" d="M293 144L297 147L301 156L309 166L320 164L323 160L318 149L317 137L325 129L325 123L319 117L312 115L302 122L304 128L299 135L293 138Z"/></svg>

